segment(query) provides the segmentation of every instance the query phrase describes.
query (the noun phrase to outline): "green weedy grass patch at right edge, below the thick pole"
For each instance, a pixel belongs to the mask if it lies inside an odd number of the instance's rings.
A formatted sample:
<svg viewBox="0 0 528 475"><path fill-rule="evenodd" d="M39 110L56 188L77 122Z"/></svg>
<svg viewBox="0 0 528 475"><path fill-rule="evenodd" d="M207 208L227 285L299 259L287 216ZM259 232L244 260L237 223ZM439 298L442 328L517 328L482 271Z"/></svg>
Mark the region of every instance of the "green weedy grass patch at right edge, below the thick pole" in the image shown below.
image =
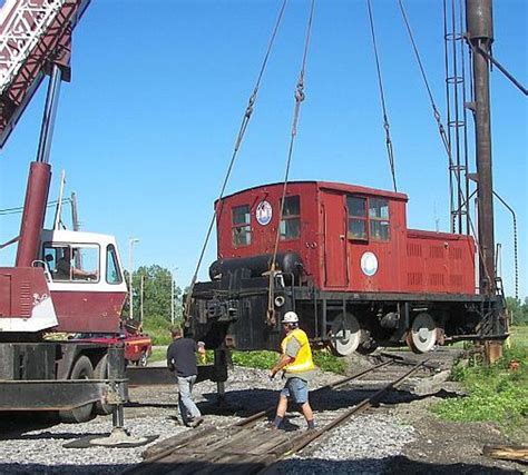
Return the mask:
<svg viewBox="0 0 528 475"><path fill-rule="evenodd" d="M451 379L468 392L466 397L444 399L431 407L439 417L456 422L493 422L506 433L527 441L528 434L528 328L512 331L503 357L483 366L453 366ZM518 362L514 369L511 362Z"/></svg>

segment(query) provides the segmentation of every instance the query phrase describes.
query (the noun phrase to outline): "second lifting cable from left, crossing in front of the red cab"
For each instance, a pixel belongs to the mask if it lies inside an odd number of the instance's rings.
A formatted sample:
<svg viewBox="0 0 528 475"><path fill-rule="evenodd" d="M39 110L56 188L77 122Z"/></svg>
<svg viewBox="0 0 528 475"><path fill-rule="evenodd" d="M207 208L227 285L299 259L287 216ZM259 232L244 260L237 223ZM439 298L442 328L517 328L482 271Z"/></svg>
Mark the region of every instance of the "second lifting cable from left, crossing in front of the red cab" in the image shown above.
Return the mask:
<svg viewBox="0 0 528 475"><path fill-rule="evenodd" d="M273 256L270 263L270 286L268 286L268 295L267 295L267 314L266 314L266 323L271 326L275 325L275 307L274 307L274 294L275 294L275 271L276 271L276 257L278 251L278 241L281 240L281 222L284 214L284 201L286 198L286 188L287 181L290 176L290 166L292 164L293 157L293 146L295 144L295 138L297 136L297 125L299 125L299 116L301 112L301 103L304 101L304 71L306 69L306 58L310 47L310 37L312 34L312 22L313 22L313 12L315 9L315 0L312 0L310 7L310 17L306 27L306 39L304 42L304 52L303 52L303 61L301 66L301 72L299 75L299 80L295 86L295 107L293 111L293 121L292 121L292 132L290 137L290 148L286 158L286 170L284 172L284 184L282 188L282 198L281 198L281 208L278 212L278 225L276 229L275 236L275 247L273 249Z"/></svg>

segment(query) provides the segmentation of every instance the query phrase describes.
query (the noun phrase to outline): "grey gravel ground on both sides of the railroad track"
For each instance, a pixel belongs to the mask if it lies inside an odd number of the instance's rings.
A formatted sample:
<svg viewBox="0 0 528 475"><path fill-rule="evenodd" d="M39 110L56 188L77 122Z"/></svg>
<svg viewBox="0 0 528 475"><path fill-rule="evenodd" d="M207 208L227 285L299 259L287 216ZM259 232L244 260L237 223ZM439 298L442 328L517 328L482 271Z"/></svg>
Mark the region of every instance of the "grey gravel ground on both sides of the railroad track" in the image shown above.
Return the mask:
<svg viewBox="0 0 528 475"><path fill-rule="evenodd" d="M317 373L313 387L340 379L336 375ZM229 408L215 404L216 385L201 383L195 396L206 417L216 427L231 425L255 410L276 403L280 380L268 382L267 373L235 368L226 384ZM439 393L441 394L441 393ZM320 409L319 426L365 396L360 388L314 397ZM282 461L271 471L281 474L480 474L522 473L518 464L488 459L480 455L485 444L505 443L506 438L487 424L453 424L436 419L427 405L433 397L393 395L374 413L365 413L330 434L301 454ZM394 402L399 405L393 405ZM173 386L130 388L130 404L125 408L126 427L131 435L158 438L151 444L192 431L176 417L176 392ZM287 431L304 429L302 416L292 413ZM12 415L0 418L2 451L0 474L115 474L141 461L146 448L65 448L71 441L108 434L111 418L98 417L85 424L57 424ZM526 469L526 466L525 466Z"/></svg>

